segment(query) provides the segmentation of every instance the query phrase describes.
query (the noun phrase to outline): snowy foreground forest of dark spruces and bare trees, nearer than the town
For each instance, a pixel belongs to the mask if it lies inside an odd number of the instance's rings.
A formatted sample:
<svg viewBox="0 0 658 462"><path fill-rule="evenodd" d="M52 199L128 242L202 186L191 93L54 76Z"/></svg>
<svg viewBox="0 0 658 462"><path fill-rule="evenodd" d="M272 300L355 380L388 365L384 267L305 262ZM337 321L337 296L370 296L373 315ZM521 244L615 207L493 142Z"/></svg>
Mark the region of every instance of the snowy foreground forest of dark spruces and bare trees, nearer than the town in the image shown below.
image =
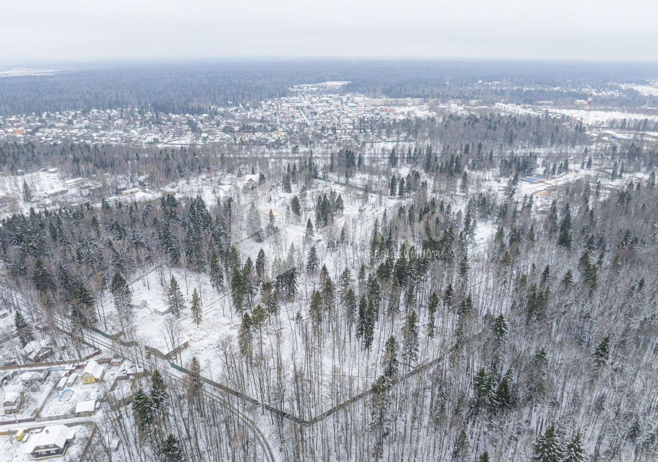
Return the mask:
<svg viewBox="0 0 658 462"><path fill-rule="evenodd" d="M87 418L93 462L655 460L655 142L363 130L415 141L1 143L3 365L143 368ZM95 186L40 202L57 175Z"/></svg>

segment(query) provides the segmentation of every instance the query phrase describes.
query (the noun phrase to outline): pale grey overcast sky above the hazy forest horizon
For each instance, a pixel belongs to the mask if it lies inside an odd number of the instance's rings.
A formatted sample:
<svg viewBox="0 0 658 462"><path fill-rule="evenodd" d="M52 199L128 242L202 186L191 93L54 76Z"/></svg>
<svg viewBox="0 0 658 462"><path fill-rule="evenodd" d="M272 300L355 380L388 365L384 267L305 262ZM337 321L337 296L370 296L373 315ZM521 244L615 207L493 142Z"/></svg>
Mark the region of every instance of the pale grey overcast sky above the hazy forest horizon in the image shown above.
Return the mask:
<svg viewBox="0 0 658 462"><path fill-rule="evenodd" d="M21 0L0 61L219 57L658 60L657 0Z"/></svg>

